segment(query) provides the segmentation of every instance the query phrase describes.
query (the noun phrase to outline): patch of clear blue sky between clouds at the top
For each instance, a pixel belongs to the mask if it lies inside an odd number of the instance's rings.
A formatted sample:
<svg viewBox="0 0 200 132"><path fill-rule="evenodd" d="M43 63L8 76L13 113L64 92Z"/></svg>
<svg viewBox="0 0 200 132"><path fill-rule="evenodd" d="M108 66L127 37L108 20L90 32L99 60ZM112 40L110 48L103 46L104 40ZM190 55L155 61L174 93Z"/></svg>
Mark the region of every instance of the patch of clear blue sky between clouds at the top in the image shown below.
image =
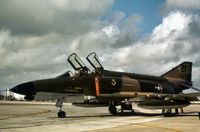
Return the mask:
<svg viewBox="0 0 200 132"><path fill-rule="evenodd" d="M125 18L134 14L139 15L141 21L136 23L140 30L139 34L150 33L161 23L159 9L163 3L163 0L115 0L112 9L102 19L106 19L114 11L125 13Z"/></svg>

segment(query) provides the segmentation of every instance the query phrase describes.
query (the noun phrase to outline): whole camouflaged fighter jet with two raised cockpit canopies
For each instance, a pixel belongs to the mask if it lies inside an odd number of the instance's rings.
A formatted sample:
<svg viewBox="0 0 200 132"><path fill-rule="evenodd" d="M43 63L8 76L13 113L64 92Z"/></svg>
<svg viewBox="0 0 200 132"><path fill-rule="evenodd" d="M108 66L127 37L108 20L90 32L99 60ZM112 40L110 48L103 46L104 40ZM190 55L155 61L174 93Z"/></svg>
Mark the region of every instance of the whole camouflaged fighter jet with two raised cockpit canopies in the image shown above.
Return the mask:
<svg viewBox="0 0 200 132"><path fill-rule="evenodd" d="M62 111L64 98L70 96L93 97L82 103L73 103L78 106L108 106L111 114L117 114L116 106L121 106L121 112L131 110L132 103L146 109L162 109L164 116L170 116L172 109L190 105L197 101L197 93L182 93L185 89L199 89L192 84L192 63L183 62L161 76L151 76L127 72L105 70L96 53L91 53L86 60L94 68L92 71L83 63L80 57L73 53L68 62L75 69L56 78L35 80L19 84L10 91L25 95L26 100L57 99L60 106L58 117L64 118Z"/></svg>

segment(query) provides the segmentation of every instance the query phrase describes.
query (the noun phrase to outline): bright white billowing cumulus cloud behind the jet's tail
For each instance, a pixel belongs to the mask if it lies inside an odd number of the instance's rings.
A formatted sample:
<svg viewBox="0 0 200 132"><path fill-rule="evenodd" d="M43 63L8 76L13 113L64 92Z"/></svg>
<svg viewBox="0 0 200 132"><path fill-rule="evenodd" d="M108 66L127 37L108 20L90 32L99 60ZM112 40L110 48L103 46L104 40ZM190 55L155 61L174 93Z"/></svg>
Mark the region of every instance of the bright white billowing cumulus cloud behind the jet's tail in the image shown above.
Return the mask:
<svg viewBox="0 0 200 132"><path fill-rule="evenodd" d="M110 69L121 67L123 71L162 75L183 61L192 61L194 81L198 82L200 39L198 31L193 30L194 26L198 28L199 21L198 15L171 12L152 34L113 51L104 63Z"/></svg>

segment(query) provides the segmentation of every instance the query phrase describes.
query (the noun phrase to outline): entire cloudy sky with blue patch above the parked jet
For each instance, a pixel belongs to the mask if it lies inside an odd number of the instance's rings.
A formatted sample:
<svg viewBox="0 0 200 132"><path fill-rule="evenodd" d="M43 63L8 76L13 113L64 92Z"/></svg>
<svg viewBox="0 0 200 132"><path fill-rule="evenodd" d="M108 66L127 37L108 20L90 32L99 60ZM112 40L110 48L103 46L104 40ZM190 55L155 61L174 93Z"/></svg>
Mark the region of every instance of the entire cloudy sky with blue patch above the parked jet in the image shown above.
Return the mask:
<svg viewBox="0 0 200 132"><path fill-rule="evenodd" d="M199 0L1 0L0 89L72 70L96 52L105 69L162 75L193 62L200 87Z"/></svg>

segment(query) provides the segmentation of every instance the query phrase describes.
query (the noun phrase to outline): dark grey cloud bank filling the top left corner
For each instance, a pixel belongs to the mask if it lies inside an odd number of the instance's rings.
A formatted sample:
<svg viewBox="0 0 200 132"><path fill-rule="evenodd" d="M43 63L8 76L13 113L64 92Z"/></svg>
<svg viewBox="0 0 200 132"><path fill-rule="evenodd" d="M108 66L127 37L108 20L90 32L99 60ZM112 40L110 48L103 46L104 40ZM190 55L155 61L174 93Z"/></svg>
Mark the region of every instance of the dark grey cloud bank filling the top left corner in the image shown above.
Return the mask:
<svg viewBox="0 0 200 132"><path fill-rule="evenodd" d="M95 28L111 4L112 0L1 1L0 29L8 29L13 35L79 35Z"/></svg>

